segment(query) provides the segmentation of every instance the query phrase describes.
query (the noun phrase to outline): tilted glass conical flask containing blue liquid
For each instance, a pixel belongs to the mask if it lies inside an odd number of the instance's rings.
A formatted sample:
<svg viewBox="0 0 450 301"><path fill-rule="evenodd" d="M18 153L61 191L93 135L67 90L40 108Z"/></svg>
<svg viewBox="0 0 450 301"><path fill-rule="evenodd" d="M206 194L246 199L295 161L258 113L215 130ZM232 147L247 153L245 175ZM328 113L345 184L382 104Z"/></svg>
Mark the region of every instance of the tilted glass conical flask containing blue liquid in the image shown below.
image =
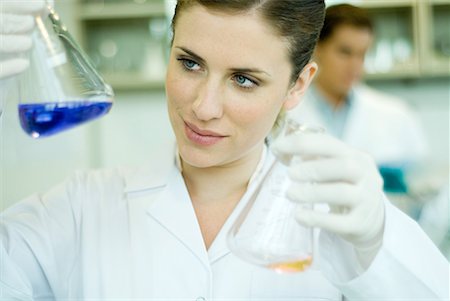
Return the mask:
<svg viewBox="0 0 450 301"><path fill-rule="evenodd" d="M35 17L30 68L20 78L19 119L33 138L103 116L114 93L51 6Z"/></svg>

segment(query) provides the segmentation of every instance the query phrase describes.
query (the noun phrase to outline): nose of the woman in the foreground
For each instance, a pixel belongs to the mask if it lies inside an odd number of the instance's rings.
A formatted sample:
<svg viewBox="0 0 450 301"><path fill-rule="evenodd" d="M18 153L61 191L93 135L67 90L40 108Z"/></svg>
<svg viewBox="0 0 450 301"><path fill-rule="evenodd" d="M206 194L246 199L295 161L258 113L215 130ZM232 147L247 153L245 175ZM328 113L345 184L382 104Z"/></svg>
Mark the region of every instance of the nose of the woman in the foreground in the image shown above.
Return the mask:
<svg viewBox="0 0 450 301"><path fill-rule="evenodd" d="M221 118L223 115L223 92L219 80L206 78L199 85L197 98L192 104L195 116L202 121Z"/></svg>

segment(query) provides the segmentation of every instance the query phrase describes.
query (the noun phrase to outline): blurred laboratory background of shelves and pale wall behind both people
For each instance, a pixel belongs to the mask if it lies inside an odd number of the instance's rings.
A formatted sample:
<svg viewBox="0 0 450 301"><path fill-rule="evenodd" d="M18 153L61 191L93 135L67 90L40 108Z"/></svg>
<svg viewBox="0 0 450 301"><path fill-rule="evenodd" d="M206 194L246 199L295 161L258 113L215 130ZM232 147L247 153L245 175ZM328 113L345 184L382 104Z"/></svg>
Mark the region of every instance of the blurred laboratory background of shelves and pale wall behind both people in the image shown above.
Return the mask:
<svg viewBox="0 0 450 301"><path fill-rule="evenodd" d="M74 170L139 166L172 145L164 93L170 39L167 3L55 2L71 34L112 85L114 105L104 118L34 140L20 128L17 89L8 91L0 125L0 211L27 195L46 191ZM342 2L326 1L327 5ZM390 193L390 198L415 219L427 216L423 227L450 258L450 0L346 3L366 8L375 24L365 83L407 102L418 114L429 146L426 160L407 178L410 189ZM423 213L424 205L432 202L437 205ZM438 217L440 222L433 223Z"/></svg>

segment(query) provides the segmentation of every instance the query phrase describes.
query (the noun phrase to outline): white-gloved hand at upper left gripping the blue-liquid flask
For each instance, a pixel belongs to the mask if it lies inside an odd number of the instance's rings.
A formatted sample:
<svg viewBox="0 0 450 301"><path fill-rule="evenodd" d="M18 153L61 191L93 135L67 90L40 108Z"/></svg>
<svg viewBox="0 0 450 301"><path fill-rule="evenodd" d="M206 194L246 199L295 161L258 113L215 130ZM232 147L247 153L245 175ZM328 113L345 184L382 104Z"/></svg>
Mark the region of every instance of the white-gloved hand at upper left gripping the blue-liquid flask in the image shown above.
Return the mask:
<svg viewBox="0 0 450 301"><path fill-rule="evenodd" d="M24 52L32 47L34 17L44 0L0 0L0 79L23 72L29 66Z"/></svg>

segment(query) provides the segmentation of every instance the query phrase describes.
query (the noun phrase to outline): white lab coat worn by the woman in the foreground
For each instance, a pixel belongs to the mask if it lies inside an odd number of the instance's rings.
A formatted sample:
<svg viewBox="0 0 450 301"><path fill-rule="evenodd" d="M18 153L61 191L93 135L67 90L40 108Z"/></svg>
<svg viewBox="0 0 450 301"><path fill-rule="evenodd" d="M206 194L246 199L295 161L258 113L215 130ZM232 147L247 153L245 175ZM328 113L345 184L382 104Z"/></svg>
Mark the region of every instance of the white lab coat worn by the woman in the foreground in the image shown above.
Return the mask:
<svg viewBox="0 0 450 301"><path fill-rule="evenodd" d="M10 300L434 300L448 297L449 266L417 224L387 203L383 246L358 271L349 244L323 231L315 264L277 274L230 252L226 233L209 250L174 160L142 169L77 173L2 213L0 279ZM0 298L1 299L1 298ZM1 299L4 300L4 299Z"/></svg>

